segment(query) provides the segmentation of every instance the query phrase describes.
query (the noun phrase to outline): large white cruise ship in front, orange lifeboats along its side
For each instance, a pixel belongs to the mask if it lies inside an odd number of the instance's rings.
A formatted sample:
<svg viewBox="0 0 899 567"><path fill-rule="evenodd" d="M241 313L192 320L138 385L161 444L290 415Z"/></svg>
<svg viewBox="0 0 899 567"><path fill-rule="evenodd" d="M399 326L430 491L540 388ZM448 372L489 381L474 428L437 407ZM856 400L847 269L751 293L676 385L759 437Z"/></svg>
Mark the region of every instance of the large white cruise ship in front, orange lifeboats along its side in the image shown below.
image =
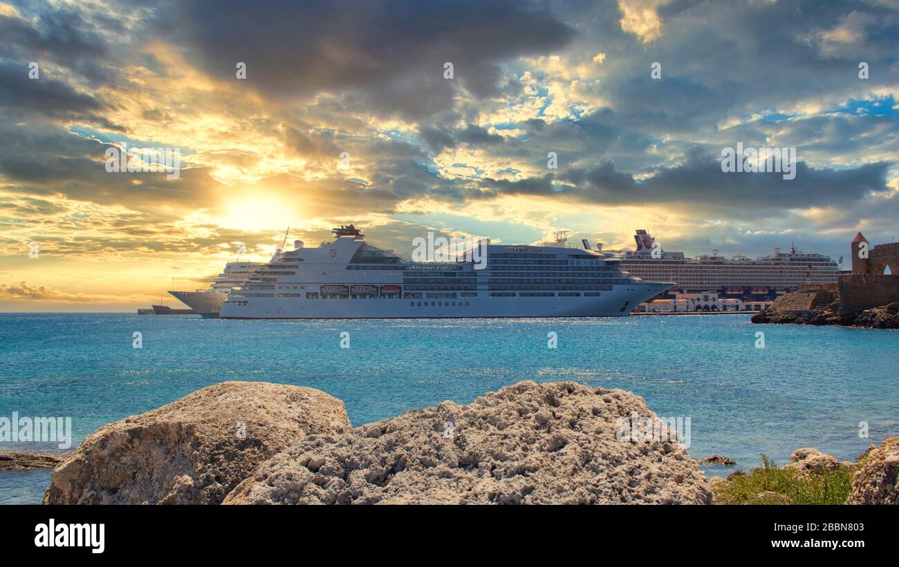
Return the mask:
<svg viewBox="0 0 899 567"><path fill-rule="evenodd" d="M564 240L484 244L470 256L410 262L366 242L352 224L334 241L283 252L256 268L222 305L222 318L622 317L672 284L621 271L618 259ZM586 247L585 247L586 248ZM480 258L483 260L483 257Z"/></svg>

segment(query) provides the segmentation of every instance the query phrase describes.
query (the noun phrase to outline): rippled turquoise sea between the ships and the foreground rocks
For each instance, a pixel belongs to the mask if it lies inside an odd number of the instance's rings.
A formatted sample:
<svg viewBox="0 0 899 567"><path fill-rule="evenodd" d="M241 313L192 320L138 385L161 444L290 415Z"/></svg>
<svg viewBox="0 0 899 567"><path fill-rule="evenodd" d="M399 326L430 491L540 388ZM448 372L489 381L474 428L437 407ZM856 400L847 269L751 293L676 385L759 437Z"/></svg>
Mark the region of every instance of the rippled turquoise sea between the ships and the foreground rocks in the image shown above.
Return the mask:
<svg viewBox="0 0 899 567"><path fill-rule="evenodd" d="M132 334L143 348L132 347ZM340 334L350 333L350 348ZM547 348L556 332L558 348ZM765 348L755 348L757 331ZM755 467L812 446L855 458L899 435L899 333L758 326L744 315L572 319L236 321L124 314L0 314L0 416L104 423L221 380L318 388L353 425L471 402L521 379L625 388L689 416L690 455ZM859 438L868 422L869 439ZM48 449L24 444L25 449ZM11 443L0 443L10 449ZM20 448L22 445L20 445ZM708 469L719 474L726 469ZM0 503L39 502L49 471L0 473Z"/></svg>

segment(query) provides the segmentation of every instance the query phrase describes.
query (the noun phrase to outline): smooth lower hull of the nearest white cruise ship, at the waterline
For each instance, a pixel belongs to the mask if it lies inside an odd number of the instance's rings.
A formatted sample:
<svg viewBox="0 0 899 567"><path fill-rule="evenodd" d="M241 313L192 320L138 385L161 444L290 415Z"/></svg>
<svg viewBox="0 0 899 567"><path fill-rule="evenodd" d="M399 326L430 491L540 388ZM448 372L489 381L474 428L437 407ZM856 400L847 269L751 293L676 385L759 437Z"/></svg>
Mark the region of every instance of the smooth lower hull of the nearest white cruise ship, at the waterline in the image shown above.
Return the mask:
<svg viewBox="0 0 899 567"><path fill-rule="evenodd" d="M306 299L228 301L221 318L553 318L627 317L669 284L616 285L598 297L460 297L447 299ZM481 293L484 295L484 292Z"/></svg>

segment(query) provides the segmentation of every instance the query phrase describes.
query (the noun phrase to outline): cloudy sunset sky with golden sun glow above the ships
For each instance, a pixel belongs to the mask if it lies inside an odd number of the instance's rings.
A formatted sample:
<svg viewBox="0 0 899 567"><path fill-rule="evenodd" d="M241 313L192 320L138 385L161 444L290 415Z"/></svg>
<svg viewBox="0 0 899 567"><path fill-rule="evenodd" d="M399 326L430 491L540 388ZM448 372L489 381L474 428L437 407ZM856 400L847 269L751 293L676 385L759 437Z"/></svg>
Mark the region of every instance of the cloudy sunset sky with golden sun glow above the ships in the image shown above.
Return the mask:
<svg viewBox="0 0 899 567"><path fill-rule="evenodd" d="M899 0L0 0L0 311L148 307L351 222L848 258L899 232L897 112Z"/></svg>

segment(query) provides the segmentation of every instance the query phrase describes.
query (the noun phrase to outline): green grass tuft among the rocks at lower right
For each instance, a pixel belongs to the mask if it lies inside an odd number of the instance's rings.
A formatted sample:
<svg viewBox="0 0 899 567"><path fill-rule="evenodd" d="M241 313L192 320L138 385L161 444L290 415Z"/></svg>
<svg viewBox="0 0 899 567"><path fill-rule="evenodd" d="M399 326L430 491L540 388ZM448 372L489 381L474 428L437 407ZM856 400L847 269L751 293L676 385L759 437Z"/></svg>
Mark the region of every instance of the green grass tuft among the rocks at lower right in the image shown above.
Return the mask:
<svg viewBox="0 0 899 567"><path fill-rule="evenodd" d="M857 467L821 474L779 468L761 455L761 467L712 486L717 504L845 504Z"/></svg>

